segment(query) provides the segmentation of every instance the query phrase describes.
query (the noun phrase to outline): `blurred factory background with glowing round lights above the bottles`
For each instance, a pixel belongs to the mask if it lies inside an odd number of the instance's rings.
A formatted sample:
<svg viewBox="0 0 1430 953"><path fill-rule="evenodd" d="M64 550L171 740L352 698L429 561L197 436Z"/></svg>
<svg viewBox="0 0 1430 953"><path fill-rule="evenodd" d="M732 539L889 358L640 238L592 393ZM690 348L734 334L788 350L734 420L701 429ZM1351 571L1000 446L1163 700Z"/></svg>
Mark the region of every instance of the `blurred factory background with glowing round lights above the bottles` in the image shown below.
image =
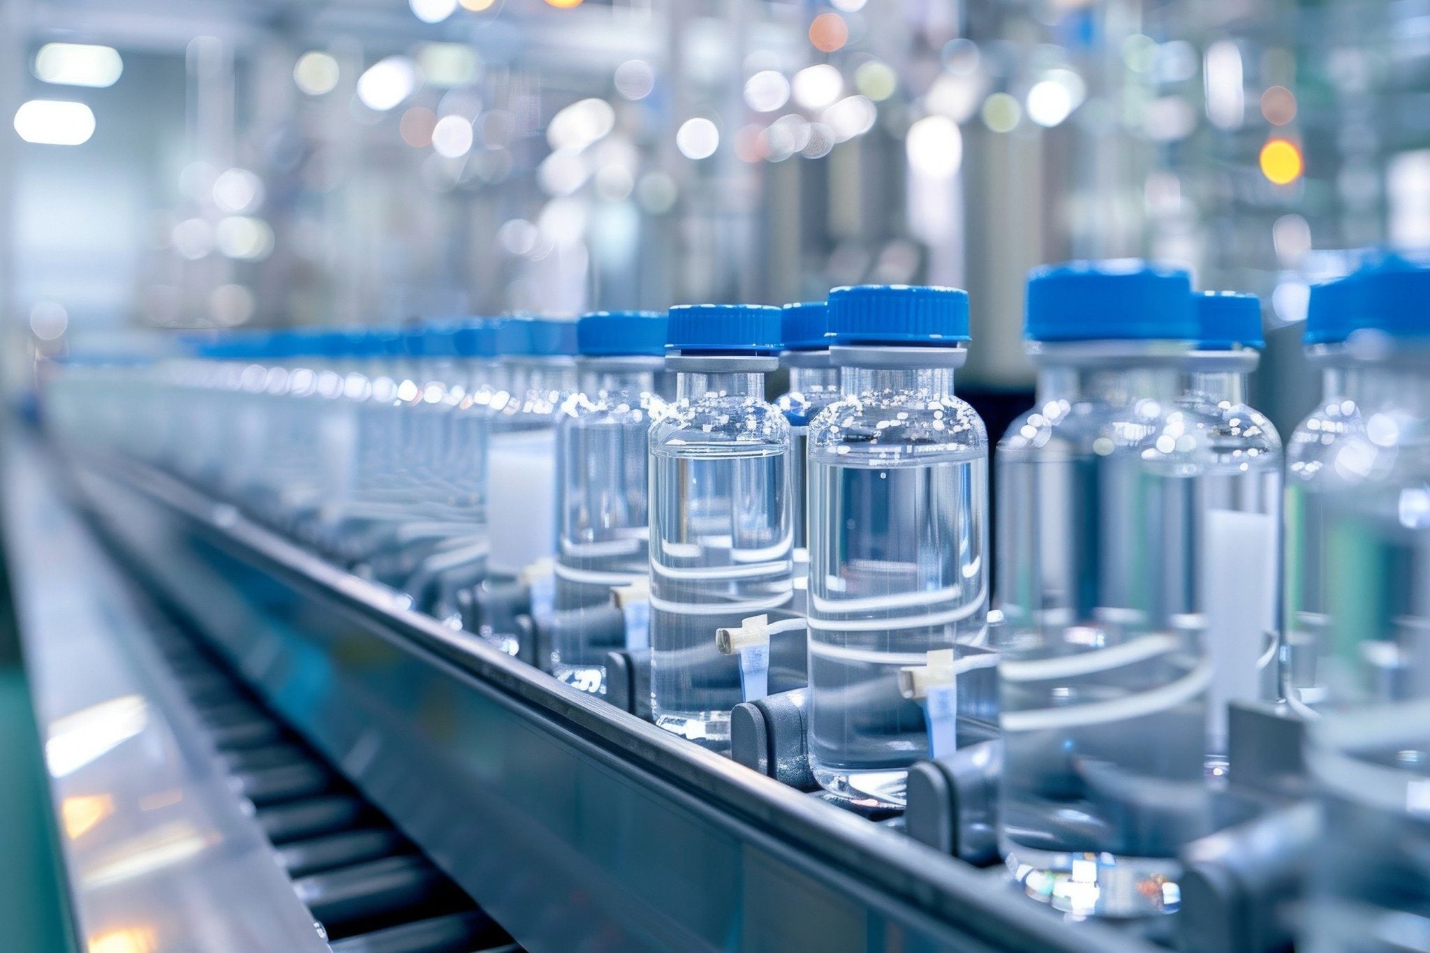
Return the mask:
<svg viewBox="0 0 1430 953"><path fill-rule="evenodd" d="M4 307L392 321L967 287L1028 386L1068 257L1257 291L1301 414L1337 250L1430 241L1424 0L7 0ZM1303 400L1303 399L1301 399Z"/></svg>

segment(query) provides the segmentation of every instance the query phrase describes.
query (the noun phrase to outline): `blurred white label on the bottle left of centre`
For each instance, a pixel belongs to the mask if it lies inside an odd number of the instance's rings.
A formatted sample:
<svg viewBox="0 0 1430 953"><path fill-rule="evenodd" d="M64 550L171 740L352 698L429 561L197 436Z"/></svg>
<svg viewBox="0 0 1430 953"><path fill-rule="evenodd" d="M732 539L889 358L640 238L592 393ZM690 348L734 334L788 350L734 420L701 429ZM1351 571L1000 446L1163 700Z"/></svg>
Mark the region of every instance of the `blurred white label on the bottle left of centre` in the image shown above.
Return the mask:
<svg viewBox="0 0 1430 953"><path fill-rule="evenodd" d="M556 553L556 434L503 433L488 461L486 523L493 572L515 576Z"/></svg>

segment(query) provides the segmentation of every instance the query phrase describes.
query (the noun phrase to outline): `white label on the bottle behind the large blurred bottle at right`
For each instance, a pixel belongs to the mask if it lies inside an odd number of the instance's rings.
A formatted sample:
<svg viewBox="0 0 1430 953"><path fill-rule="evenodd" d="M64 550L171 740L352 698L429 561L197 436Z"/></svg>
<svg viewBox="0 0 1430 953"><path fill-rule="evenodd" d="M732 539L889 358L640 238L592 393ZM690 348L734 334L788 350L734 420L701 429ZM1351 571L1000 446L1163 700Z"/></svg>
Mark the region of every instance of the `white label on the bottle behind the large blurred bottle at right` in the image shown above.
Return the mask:
<svg viewBox="0 0 1430 953"><path fill-rule="evenodd" d="M1207 650L1216 676L1208 697L1214 749L1227 737L1227 703L1260 697L1257 660L1276 624L1276 520L1266 513L1210 510L1201 567Z"/></svg>

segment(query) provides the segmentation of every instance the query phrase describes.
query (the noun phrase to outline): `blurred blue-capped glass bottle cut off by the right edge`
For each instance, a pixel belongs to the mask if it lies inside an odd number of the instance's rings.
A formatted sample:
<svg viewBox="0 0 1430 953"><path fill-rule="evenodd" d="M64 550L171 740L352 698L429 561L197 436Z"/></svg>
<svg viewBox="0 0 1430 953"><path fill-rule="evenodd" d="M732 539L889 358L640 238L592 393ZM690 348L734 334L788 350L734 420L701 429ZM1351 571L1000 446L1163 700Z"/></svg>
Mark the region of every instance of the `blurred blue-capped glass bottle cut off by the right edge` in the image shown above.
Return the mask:
<svg viewBox="0 0 1430 953"><path fill-rule="evenodd" d="M1430 897L1430 269L1353 274L1361 426L1321 487L1326 642L1307 766L1327 836L1297 949L1417 950Z"/></svg>

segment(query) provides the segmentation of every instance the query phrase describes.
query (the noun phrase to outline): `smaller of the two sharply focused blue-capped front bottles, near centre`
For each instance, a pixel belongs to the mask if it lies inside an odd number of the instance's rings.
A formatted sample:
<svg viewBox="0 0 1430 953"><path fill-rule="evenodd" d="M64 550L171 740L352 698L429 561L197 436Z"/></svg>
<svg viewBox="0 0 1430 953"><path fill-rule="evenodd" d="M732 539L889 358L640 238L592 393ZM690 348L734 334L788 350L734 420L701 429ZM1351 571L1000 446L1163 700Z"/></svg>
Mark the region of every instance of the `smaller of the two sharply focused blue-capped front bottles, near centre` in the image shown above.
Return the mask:
<svg viewBox="0 0 1430 953"><path fill-rule="evenodd" d="M715 630L788 607L789 423L765 401L779 309L669 311L676 403L651 426L651 707L655 723L729 750L739 662Z"/></svg>

